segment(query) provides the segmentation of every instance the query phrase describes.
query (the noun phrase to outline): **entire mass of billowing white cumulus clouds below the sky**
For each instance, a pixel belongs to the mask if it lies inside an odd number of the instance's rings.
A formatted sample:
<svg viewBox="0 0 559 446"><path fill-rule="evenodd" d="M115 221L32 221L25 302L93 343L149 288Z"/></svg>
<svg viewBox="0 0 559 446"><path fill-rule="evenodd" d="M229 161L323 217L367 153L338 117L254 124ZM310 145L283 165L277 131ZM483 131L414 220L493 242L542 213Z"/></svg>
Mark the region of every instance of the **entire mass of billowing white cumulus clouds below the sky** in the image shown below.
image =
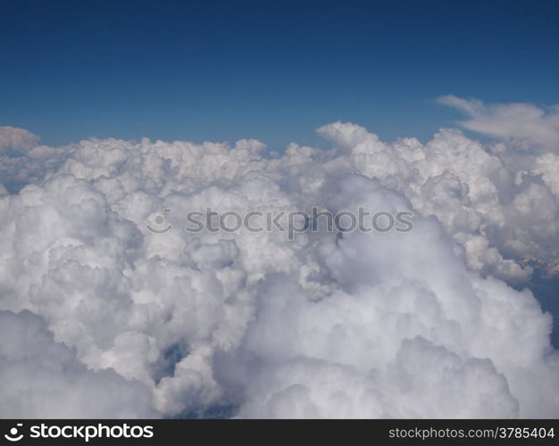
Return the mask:
<svg viewBox="0 0 559 446"><path fill-rule="evenodd" d="M558 257L555 154L319 132L331 149L107 139L4 165L27 186L0 197L0 400L21 400L3 415L76 416L50 389L95 393L105 417L559 416L552 318L502 280ZM414 227L183 229L207 207L312 206ZM172 228L153 233L163 209Z"/></svg>

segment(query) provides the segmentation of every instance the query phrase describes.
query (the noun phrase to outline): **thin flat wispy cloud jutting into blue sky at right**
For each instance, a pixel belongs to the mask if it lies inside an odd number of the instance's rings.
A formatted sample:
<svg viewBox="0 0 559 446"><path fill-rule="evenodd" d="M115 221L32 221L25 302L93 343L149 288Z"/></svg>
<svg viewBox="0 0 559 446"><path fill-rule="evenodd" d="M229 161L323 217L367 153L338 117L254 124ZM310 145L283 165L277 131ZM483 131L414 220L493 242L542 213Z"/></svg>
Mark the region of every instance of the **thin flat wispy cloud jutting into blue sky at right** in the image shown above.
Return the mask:
<svg viewBox="0 0 559 446"><path fill-rule="evenodd" d="M507 139L523 148L544 147L559 151L559 112L545 111L530 103L486 104L454 95L438 98L439 103L461 110L470 116L460 125L488 136Z"/></svg>

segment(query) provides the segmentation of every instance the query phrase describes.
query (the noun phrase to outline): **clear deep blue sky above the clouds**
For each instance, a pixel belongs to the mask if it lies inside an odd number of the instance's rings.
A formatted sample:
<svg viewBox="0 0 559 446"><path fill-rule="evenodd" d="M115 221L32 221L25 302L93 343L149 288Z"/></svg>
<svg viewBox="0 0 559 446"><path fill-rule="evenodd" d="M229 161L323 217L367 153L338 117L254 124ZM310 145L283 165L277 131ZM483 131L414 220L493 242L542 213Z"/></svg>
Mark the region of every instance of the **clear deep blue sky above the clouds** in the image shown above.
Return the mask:
<svg viewBox="0 0 559 446"><path fill-rule="evenodd" d="M460 117L438 95L559 103L559 2L0 2L0 125L88 136L312 144Z"/></svg>

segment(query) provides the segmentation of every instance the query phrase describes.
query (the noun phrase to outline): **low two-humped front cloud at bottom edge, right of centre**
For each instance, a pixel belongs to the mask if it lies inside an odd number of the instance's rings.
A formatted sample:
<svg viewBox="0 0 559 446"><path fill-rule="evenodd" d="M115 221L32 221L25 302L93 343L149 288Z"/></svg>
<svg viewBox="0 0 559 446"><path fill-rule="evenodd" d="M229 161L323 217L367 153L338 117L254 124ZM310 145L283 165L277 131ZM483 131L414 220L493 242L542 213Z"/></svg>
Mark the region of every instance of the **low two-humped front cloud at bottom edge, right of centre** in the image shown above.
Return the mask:
<svg viewBox="0 0 559 446"><path fill-rule="evenodd" d="M248 395L241 417L519 415L518 402L491 361L463 361L422 338L406 340L382 372L363 373L335 362L292 359L258 375Z"/></svg>

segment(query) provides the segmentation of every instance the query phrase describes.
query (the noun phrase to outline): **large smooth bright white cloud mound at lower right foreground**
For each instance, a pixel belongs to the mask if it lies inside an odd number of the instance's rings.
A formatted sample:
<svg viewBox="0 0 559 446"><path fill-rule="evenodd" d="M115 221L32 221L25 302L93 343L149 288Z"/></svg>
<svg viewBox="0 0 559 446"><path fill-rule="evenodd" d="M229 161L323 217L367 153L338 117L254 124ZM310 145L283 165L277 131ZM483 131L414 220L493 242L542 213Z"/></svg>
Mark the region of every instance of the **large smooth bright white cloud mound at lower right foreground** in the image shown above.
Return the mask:
<svg viewBox="0 0 559 446"><path fill-rule="evenodd" d="M359 177L341 197L349 209L398 201ZM322 239L337 287L318 301L289 277L263 284L240 351L217 362L246 386L240 416L554 416L550 318L530 293L469 273L440 230L420 219L405 240Z"/></svg>

